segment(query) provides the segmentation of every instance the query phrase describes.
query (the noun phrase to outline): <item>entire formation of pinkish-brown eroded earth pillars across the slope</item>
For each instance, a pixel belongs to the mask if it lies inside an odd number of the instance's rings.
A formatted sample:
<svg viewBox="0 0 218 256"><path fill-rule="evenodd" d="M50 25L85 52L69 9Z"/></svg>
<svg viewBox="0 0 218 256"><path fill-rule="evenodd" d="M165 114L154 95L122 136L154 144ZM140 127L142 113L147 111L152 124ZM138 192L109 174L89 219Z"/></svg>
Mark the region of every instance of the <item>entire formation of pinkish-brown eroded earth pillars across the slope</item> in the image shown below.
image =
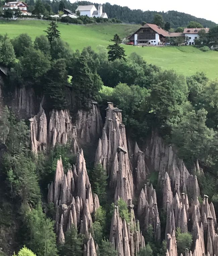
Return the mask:
<svg viewBox="0 0 218 256"><path fill-rule="evenodd" d="M69 115L67 111L63 113L61 116ZM74 224L79 232L87 237L84 255L96 255L98 250L98 245L89 234L89 229L94 221L93 213L100 204L98 196L92 194L83 150L79 149L79 143L77 143L78 134L80 138L90 143L90 135L98 136L101 133L101 123L97 121L98 114L95 108L92 113L94 113L92 117L89 114L80 113L75 126L70 119L62 118L65 123L63 130L58 126L59 115L53 113L53 121L49 121L52 124L51 127L57 130L56 133L52 132L53 137L50 136L50 138L54 138L55 134L57 135L55 138L59 138L58 142L64 138L61 143L65 143L71 137L73 152L78 152L76 165L66 174L64 174L61 159L58 160L55 179L49 187L48 201L53 202L56 207L55 223L58 243L64 243L65 232ZM39 117L42 123L44 116L41 109ZM87 118L89 122L86 122ZM34 120L31 122L34 131ZM37 134L36 141L40 143L38 147L43 150L45 141L50 141L50 145L54 144L51 143L53 140L48 139L49 133L47 137L40 137L40 131L46 129L46 126L40 127L40 129L37 128L38 130L35 129L33 134ZM47 130L54 129L47 127ZM60 133L59 136L58 133ZM144 150L141 150L137 143L133 149L127 148L121 111L112 103L108 104L102 137L98 142L95 164L98 163L102 164L109 175L110 188L114 191L114 202L122 198L127 203L131 216L129 223L126 223L120 218L119 208L116 206L114 209L110 242L118 251L118 255L137 255L140 248L145 247L143 234L146 234L149 225L153 227L155 241L166 240L166 255L177 256L175 237L177 227L182 233L189 231L193 235L192 251L186 251L185 255L218 255L214 206L212 203L209 204L206 195L203 203L199 203L200 190L197 177L189 173L182 159L176 156L171 146L164 144L157 133L152 133ZM161 192L162 202L157 200L156 190L148 180L149 175L154 171L158 173L158 184L154 185ZM132 204L133 198L138 201L136 207ZM163 209L166 214L164 237L161 237L159 209Z"/></svg>

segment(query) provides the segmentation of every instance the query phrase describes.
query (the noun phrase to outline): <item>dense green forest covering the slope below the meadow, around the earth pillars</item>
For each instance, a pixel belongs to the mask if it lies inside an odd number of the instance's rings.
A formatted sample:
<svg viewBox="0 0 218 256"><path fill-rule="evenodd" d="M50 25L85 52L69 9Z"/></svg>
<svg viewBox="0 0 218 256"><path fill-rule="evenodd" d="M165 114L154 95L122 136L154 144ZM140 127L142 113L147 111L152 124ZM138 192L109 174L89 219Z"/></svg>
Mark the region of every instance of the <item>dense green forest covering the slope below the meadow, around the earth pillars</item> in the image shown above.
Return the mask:
<svg viewBox="0 0 218 256"><path fill-rule="evenodd" d="M158 66L147 64L142 57L135 53L126 57L118 35L111 40L108 51L102 49L99 52L94 52L91 47L86 47L79 52L76 49L72 51L67 43L60 39L60 32L54 22L51 22L46 33L46 36L38 36L34 41L27 34L21 34L12 40L7 35L0 37L0 66L8 68L8 75L3 76L3 82L0 80L3 96L0 114L0 255L12 255L15 251L18 256L113 256L117 255L117 250L120 248L117 245L115 250L115 242L111 243L110 226L111 219L115 214L119 214L118 220L123 221L125 227L123 232L129 228L128 232L140 234L140 230L143 230L144 226L141 221L136 222L138 224L133 221L133 208L134 205L137 207L139 204L137 196L139 196L142 186L137 183L138 187L134 188L135 194L130 205L127 204L125 198L120 196L117 196L118 200L114 200L114 191L110 187L111 177L106 172L104 161L102 164L99 162L94 164L95 157L92 156L92 151L96 148L95 144L89 148L87 142L83 145L84 153L81 149L76 153L73 151L73 147L77 148L78 146L75 146L75 140L74 144L60 143L65 139L56 135L57 143L54 143L53 147L43 150L43 147L40 146L41 151L38 151L37 156L34 154L33 133L35 129L37 134L36 124L30 129L30 122L33 120L20 118L12 105L8 103L17 88L22 91L34 92L37 99L43 99L41 107L45 111L41 110L41 121L39 122L43 122L43 118L45 119L50 111L50 116L57 115L57 113L65 115L66 110L69 110L71 115L77 111L83 115L83 111L89 111L93 101L98 102L99 115L104 119L106 117L105 109L113 109L111 103L108 107L108 102L113 102L117 108L122 110L122 112L117 109L114 111L122 114L122 118L121 114L117 117L120 123L122 122L119 129L125 127L129 140L135 141L139 147L143 147L152 133L158 133L164 143L172 146L177 156L183 159L192 177L196 175L201 191L198 196L199 202L202 203L204 200L204 204L206 204L205 195L207 195L209 202L214 205L214 214L217 215L218 81L209 80L204 73L185 77L173 70L162 70ZM73 98L72 104L69 101L69 92ZM108 112L109 114L110 112ZM89 114L87 116L89 118ZM47 127L47 122L45 123ZM69 121L66 122L66 127L70 125L69 123ZM123 124L124 126L122 126ZM64 129L66 127L64 125ZM41 129L44 129L43 125ZM103 135L107 129L103 129ZM74 134L76 133L74 132ZM36 137L38 136L36 135ZM54 142L56 137L53 135L50 140ZM75 139L75 137L72 138ZM30 138L32 138L32 149ZM103 137L101 143L104 145ZM99 148L100 146L98 146L98 150L100 150ZM123 147L118 147L118 149L120 158L121 155L127 157L128 154ZM84 169L84 157L87 172ZM63 176L65 175L66 178L71 175L72 171L72 175L74 175L75 172L78 172L79 166L83 169L81 175L87 173L87 176L82 178L84 184L89 184L87 194L91 198L98 197L101 206L99 205L90 213L91 210L90 212L87 210L86 204L84 209L89 214L85 212L86 217L83 214L84 221L77 222L72 216L74 222L68 224L69 228L67 227L64 235L59 232L57 237L54 225L57 223L57 213L55 212L58 209L58 202L51 199L53 198L51 187L55 186L55 182L54 185L52 182L54 177L58 178L59 172L63 172ZM77 169L75 170L74 167ZM131 171L129 173L131 176ZM156 190L153 193L157 194L158 206L157 202L155 205L160 213L160 234L157 239L154 239L156 229L154 229L153 222L148 224L141 234L141 237L144 236L144 238L141 238L138 249L135 249L135 255L138 256L164 256L168 248L165 236L168 218L167 206L162 206L161 203L162 192L158 186L157 174L158 172L149 173L146 178L142 179L142 182L150 186L150 192L153 186ZM79 172L78 175L80 175ZM134 175L136 174L133 171ZM165 182L168 182L167 175ZM77 181L75 180L75 184L79 182L79 177ZM133 179L135 178L134 176ZM66 181L62 180L61 182L62 188L64 186L67 188ZM48 187L48 184L52 185ZM133 184L129 186L133 187ZM78 193L82 186L79 188ZM92 188L93 195L90 188ZM47 198L48 193L50 194ZM54 193L56 193L55 188ZM56 193L57 195L58 193ZM68 194L64 199L62 190L61 200L67 201L67 197L70 195ZM78 203L76 200L77 198L74 200L75 205ZM186 200L188 200L187 197ZM96 204L94 202L94 208L99 202ZM184 213L184 210L182 212ZM137 216L137 213L135 214ZM140 215L138 218L140 220ZM63 219L64 214L61 215L62 224ZM90 226L83 233L81 230L86 226L86 222ZM82 227L82 223L84 223L84 227ZM127 225L128 223L130 225ZM134 223L133 226L131 223ZM192 242L196 238L191 234L187 223L186 228L177 227L175 233L176 253L185 255L186 248L193 249ZM8 243L7 237L10 237L10 243ZM118 240L118 238L116 239ZM84 245L86 245L85 249ZM95 249L97 254L90 252L88 254L87 248L94 250L94 247L98 248ZM124 250L127 249L124 248ZM83 252L87 254L83 254Z"/></svg>

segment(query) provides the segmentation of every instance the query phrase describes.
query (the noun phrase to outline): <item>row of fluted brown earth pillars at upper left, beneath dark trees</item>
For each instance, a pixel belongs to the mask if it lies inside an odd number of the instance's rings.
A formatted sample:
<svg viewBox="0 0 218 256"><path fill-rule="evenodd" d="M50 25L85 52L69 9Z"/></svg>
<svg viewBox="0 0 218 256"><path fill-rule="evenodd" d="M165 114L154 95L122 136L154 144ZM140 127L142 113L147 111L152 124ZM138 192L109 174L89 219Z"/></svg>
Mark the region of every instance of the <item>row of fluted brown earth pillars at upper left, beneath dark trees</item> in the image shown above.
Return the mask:
<svg viewBox="0 0 218 256"><path fill-rule="evenodd" d="M75 149L75 137L79 144L91 143L99 138L102 129L102 118L95 102L88 111L78 111L75 125L68 110L52 110L47 117L42 106L39 113L29 120L31 148L36 155L38 151L54 147L57 143L66 145L70 142Z"/></svg>

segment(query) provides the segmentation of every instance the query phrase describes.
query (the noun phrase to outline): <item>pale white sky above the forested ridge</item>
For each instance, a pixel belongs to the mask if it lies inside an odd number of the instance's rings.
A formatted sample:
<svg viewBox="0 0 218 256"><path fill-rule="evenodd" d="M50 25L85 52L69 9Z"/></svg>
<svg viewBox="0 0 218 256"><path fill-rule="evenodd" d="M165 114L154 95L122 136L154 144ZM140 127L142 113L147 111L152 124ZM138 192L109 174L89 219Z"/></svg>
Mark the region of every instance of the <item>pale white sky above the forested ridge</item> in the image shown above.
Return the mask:
<svg viewBox="0 0 218 256"><path fill-rule="evenodd" d="M217 0L95 0L92 2L99 2L101 4L109 2L111 4L128 6L130 9L142 9L144 11L166 12L175 10L194 15L198 18L209 19L218 24Z"/></svg>

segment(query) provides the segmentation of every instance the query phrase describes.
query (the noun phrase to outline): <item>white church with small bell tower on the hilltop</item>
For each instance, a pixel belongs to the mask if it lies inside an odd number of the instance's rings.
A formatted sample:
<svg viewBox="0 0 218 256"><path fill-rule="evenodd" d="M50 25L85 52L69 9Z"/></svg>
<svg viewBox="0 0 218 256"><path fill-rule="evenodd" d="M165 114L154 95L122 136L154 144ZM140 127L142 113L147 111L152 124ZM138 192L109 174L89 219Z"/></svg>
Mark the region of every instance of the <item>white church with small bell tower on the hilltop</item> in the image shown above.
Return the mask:
<svg viewBox="0 0 218 256"><path fill-rule="evenodd" d="M100 18L108 18L107 13L103 12L102 5L99 4L98 10L95 5L79 5L76 9L76 12L79 11L80 16L88 16L88 17L100 17Z"/></svg>

